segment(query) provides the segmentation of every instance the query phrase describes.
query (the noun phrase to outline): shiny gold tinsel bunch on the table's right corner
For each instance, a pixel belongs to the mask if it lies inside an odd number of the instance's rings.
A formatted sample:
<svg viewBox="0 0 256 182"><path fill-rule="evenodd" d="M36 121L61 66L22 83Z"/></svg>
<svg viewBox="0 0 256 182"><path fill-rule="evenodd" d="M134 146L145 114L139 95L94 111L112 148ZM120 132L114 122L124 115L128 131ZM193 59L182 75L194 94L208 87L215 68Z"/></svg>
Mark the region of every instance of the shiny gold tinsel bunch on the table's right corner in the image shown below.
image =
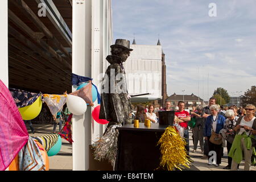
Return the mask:
<svg viewBox="0 0 256 182"><path fill-rule="evenodd" d="M168 171L174 168L189 168L189 159L185 151L185 140L180 137L174 126L168 126L158 141L160 144L160 167L167 167ZM184 167L182 167L184 166ZM182 171L182 170L181 170Z"/></svg>

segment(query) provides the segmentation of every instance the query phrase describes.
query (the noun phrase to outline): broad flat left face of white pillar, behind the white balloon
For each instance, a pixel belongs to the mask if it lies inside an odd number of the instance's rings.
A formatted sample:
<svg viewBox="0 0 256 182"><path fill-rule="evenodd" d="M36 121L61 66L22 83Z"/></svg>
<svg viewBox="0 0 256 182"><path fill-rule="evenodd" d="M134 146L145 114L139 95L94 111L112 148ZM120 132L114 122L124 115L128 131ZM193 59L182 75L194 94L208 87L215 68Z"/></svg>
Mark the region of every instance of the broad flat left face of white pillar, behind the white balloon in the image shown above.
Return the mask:
<svg viewBox="0 0 256 182"><path fill-rule="evenodd" d="M92 1L73 1L72 73L91 76ZM84 115L73 115L73 170L88 170L91 140L91 107Z"/></svg>

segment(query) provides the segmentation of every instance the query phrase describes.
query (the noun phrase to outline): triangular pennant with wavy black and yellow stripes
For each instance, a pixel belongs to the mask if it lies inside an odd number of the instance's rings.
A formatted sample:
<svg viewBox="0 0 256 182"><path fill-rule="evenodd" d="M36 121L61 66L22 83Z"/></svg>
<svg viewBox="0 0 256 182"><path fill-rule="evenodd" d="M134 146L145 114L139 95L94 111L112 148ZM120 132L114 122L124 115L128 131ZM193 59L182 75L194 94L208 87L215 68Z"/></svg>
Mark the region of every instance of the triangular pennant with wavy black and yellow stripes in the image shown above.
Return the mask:
<svg viewBox="0 0 256 182"><path fill-rule="evenodd" d="M59 134L47 134L39 137L33 137L34 140L38 141L44 149L48 152L57 142Z"/></svg>

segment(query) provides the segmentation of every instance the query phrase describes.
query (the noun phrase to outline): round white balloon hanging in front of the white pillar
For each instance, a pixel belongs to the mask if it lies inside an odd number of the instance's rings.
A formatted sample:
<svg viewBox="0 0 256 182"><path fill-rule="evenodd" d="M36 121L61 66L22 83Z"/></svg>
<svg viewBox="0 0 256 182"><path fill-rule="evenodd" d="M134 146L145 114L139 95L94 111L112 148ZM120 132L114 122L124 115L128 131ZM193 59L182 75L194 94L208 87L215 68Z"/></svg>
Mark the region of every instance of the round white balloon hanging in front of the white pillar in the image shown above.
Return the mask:
<svg viewBox="0 0 256 182"><path fill-rule="evenodd" d="M87 109L86 102L81 97L72 95L67 97L67 106L68 110L75 115L84 114Z"/></svg>

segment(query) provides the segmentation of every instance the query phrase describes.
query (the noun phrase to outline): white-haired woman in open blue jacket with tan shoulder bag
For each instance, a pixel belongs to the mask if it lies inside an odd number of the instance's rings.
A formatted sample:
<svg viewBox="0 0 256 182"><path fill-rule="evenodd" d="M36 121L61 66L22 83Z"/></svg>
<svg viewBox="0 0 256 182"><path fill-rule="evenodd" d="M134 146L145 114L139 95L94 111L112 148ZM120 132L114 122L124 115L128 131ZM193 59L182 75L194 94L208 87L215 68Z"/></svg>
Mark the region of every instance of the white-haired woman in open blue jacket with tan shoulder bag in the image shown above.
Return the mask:
<svg viewBox="0 0 256 182"><path fill-rule="evenodd" d="M213 136L216 135L217 137L214 137L214 140L216 141L222 140L220 130L224 128L225 118L223 115L218 114L218 111L220 110L219 106L211 105L209 109L210 109L211 115L207 117L207 120L205 122L204 138L205 140L208 140L209 151L216 152L217 160L216 160L215 166L218 167L221 164L222 143L214 144L216 142L213 143L213 140L211 142L210 137L212 135ZM209 158L210 156L208 155L208 159ZM212 164L213 163L209 161L208 165L212 165Z"/></svg>

